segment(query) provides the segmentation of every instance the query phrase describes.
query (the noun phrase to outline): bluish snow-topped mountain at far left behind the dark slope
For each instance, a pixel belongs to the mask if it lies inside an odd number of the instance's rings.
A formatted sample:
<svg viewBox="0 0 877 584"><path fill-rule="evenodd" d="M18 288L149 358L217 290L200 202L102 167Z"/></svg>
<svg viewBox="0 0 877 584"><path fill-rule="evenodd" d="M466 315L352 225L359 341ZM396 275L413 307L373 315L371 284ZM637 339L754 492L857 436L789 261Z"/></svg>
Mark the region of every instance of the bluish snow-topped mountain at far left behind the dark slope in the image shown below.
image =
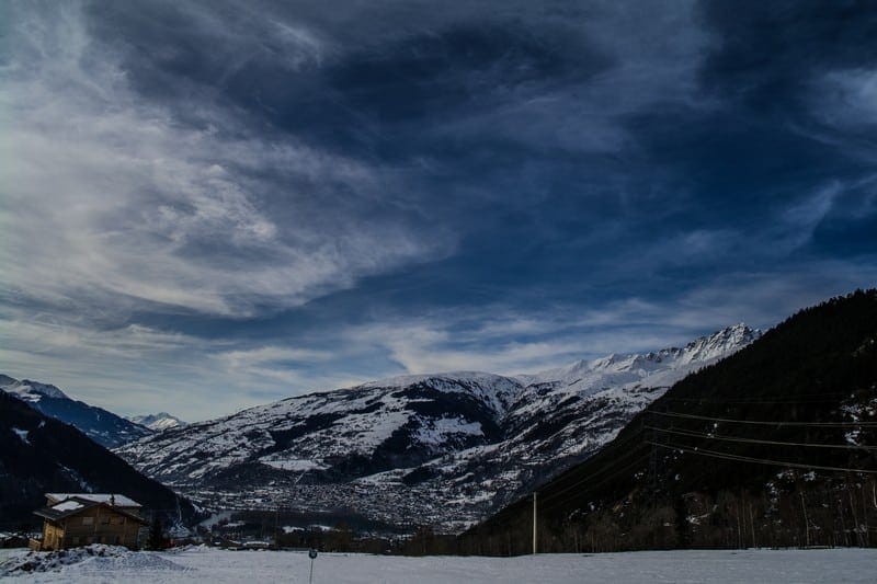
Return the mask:
<svg viewBox="0 0 877 584"><path fill-rule="evenodd" d="M0 375L0 390L35 410L71 426L106 448L148 436L152 432L102 408L69 398L55 386Z"/></svg>

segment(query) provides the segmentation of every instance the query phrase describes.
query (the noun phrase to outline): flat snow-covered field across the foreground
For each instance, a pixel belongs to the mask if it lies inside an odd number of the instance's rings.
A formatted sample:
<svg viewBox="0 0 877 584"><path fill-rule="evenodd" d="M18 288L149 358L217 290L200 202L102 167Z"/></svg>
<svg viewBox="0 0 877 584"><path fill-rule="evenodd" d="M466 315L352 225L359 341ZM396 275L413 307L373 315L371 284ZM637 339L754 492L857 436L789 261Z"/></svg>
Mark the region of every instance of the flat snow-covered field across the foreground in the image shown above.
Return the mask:
<svg viewBox="0 0 877 584"><path fill-rule="evenodd" d="M20 562L26 551L0 561ZM308 582L303 552L221 551L119 552L89 556L56 571L2 576L3 582ZM660 582L809 583L875 581L877 550L649 551L603 554L543 554L521 558L398 558L321 553L315 583L583 583ZM3 569L0 568L0 574Z"/></svg>

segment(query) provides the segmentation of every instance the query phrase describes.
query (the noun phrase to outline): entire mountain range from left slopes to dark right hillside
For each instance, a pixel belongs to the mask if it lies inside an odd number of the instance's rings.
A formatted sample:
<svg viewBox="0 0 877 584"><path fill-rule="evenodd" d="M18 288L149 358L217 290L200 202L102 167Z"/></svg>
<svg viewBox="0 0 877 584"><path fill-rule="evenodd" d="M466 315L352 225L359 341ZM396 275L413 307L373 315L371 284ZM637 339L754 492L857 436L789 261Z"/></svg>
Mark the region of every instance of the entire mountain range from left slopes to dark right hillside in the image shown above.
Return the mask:
<svg viewBox="0 0 877 584"><path fill-rule="evenodd" d="M868 546L877 523L876 290L764 335L738 324L533 375L405 376L137 425L148 434L115 453L157 481L41 406L105 410L29 380L0 388L5 520L47 490L127 492L191 517L160 481L207 508L348 509L409 531L499 511L456 540L466 553L527 552L534 491L542 551Z"/></svg>

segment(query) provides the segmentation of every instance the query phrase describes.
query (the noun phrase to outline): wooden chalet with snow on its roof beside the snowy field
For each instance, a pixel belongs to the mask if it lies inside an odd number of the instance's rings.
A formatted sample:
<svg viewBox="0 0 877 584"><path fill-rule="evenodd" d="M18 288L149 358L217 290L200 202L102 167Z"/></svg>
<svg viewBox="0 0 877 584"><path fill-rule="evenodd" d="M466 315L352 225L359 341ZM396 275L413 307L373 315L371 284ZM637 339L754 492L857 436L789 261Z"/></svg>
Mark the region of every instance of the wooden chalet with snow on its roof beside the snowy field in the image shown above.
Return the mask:
<svg viewBox="0 0 877 584"><path fill-rule="evenodd" d="M46 493L46 506L34 512L43 517L43 539L32 539L36 550L60 550L110 543L139 546L148 522L140 504L119 494Z"/></svg>

